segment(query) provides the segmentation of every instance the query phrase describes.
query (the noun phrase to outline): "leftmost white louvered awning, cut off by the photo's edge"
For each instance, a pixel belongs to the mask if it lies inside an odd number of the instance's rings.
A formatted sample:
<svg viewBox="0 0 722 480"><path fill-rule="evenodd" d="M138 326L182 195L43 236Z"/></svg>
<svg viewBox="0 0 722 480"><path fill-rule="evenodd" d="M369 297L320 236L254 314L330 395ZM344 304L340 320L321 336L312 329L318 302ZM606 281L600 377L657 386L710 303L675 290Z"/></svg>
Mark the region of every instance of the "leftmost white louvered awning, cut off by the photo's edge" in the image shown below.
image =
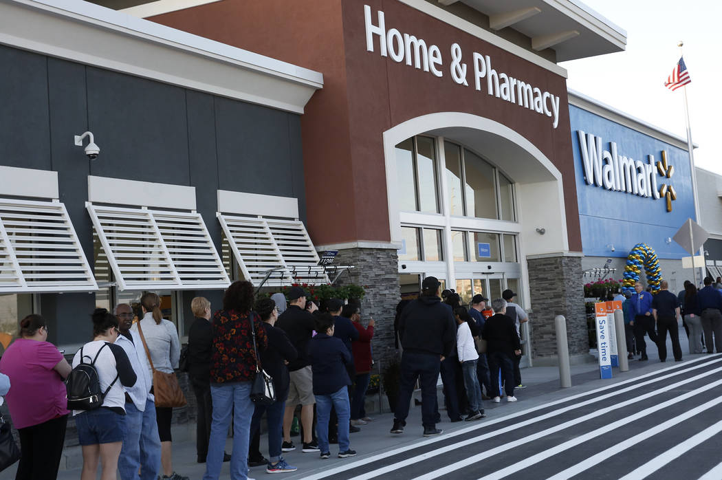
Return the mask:
<svg viewBox="0 0 722 480"><path fill-rule="evenodd" d="M0 198L0 293L95 290L64 204Z"/></svg>

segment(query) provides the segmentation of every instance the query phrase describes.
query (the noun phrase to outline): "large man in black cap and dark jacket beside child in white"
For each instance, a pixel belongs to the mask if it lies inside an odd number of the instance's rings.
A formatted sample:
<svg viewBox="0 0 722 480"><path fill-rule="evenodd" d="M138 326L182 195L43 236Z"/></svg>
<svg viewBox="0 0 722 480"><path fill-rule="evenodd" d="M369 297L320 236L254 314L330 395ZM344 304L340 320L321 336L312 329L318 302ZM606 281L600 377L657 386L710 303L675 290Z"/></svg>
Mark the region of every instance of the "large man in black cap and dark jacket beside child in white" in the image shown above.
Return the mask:
<svg viewBox="0 0 722 480"><path fill-rule="evenodd" d="M399 318L399 337L404 353L401 355L399 403L391 433L404 432L417 378L421 383L424 436L442 432L436 428L434 412L436 380L441 361L456 347L456 322L451 307L444 305L438 296L440 287L438 279L427 276L422 283L421 296L406 305Z"/></svg>

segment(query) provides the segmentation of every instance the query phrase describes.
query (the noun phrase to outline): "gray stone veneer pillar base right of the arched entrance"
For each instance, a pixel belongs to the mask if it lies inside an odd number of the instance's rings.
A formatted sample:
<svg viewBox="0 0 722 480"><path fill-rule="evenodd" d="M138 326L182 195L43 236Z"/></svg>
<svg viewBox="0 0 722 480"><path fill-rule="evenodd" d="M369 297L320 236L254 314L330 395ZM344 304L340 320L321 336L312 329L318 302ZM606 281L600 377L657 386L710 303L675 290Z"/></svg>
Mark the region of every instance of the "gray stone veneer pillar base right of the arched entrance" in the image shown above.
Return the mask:
<svg viewBox="0 0 722 480"><path fill-rule="evenodd" d="M589 354L582 263L578 256L528 258L531 292L531 348L535 365L556 363L557 336L554 317L567 320L570 357ZM544 362L547 359L547 362Z"/></svg>

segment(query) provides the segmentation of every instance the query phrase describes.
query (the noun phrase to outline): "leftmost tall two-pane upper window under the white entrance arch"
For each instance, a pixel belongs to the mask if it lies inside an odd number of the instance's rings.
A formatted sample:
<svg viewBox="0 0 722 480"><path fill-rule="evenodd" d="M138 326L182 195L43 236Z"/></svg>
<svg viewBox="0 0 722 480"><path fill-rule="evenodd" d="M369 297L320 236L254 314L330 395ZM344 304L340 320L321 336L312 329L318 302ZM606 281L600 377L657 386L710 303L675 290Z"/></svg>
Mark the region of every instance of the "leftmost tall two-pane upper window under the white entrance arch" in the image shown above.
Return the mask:
<svg viewBox="0 0 722 480"><path fill-rule="evenodd" d="M436 142L416 136L396 145L396 180L401 211L438 213Z"/></svg>

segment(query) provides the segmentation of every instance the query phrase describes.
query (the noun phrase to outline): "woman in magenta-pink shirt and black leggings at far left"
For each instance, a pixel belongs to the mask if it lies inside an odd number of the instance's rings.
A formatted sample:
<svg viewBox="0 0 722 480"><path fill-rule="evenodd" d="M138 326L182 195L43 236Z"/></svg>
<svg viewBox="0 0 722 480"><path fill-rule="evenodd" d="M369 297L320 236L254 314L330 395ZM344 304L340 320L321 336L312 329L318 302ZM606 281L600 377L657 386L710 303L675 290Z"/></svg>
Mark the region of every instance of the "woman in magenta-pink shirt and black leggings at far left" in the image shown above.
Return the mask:
<svg viewBox="0 0 722 480"><path fill-rule="evenodd" d="M43 317L27 315L0 359L0 372L10 378L5 400L22 451L16 480L58 476L69 413L63 379L71 368L47 339Z"/></svg>

